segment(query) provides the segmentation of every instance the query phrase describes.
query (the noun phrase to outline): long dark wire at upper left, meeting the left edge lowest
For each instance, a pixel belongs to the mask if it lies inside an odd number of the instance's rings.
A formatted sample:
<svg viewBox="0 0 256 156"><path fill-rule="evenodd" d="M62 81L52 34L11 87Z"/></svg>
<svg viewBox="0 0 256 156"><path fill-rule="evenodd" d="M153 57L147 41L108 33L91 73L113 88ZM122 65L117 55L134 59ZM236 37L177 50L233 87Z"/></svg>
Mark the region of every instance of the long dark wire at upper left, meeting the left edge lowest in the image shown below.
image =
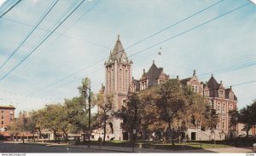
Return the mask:
<svg viewBox="0 0 256 156"><path fill-rule="evenodd" d="M0 82L1 82L4 78L6 78L11 72L13 72L18 66L20 66L20 64L21 64L22 62L26 61L26 59L27 59L30 55L32 55L32 53L33 53L36 49L38 49L38 47L39 47L42 43L44 43L44 41L45 41L47 38L49 38L49 36L50 36L53 32L55 32L55 30L56 30L59 26L61 26L61 24L62 24L65 20L67 20L67 18L68 18L71 14L73 14L73 12L74 12L76 9L78 9L79 6L80 6L82 3L84 3L84 1L85 1L85 0L81 1L81 3L79 3L79 5L76 6L76 8L73 9L73 11L72 11L70 14L67 14L67 17L65 17L64 20L62 20L61 22L59 22L59 23L58 23L58 26L55 26L55 28L53 29L53 31L50 32L48 35L46 35L46 37L45 37L40 43L38 43L38 45L37 45L34 49L32 49L32 51L30 52L29 55L26 55L26 57L25 57L22 61L20 61L20 63L18 63L13 69L11 69L7 74L5 74L5 75L3 76L3 78L0 78Z"/></svg>

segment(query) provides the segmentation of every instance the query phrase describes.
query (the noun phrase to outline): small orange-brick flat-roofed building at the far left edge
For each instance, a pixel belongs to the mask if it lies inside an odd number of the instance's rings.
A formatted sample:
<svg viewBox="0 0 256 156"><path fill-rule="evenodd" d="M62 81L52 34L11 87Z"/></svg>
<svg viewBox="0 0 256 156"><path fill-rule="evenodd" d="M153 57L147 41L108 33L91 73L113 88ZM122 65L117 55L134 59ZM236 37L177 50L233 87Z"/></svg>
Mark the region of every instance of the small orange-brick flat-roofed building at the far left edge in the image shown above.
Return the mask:
<svg viewBox="0 0 256 156"><path fill-rule="evenodd" d="M7 128L12 122L15 121L15 107L0 106L0 128Z"/></svg>

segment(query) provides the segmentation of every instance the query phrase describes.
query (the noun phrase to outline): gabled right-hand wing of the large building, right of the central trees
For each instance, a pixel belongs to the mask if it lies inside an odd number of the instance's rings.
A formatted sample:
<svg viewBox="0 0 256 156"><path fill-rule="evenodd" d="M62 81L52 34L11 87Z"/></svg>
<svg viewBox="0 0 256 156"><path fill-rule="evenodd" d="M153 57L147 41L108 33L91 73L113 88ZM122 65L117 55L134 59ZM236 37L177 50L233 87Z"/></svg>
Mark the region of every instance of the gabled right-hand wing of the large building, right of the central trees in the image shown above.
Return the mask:
<svg viewBox="0 0 256 156"><path fill-rule="evenodd" d="M208 105L215 109L218 115L217 128L213 133L210 130L190 129L188 131L191 140L208 140L208 138L222 140L225 136L230 136L230 129L232 128L230 127L229 111L237 108L237 97L232 87L224 88L222 81L218 83L213 75L206 83L200 82L196 77L195 71L192 77L181 79L180 82L183 85L191 86L196 93L205 96Z"/></svg>

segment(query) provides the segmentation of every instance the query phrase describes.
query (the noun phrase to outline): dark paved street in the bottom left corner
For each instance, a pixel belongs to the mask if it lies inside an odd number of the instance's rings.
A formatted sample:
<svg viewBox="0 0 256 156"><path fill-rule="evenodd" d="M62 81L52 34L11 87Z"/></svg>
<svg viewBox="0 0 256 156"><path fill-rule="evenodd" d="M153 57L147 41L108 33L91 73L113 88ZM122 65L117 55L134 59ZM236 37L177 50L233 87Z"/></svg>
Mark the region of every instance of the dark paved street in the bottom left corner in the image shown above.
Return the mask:
<svg viewBox="0 0 256 156"><path fill-rule="evenodd" d="M119 153L119 151L0 142L0 153Z"/></svg>

